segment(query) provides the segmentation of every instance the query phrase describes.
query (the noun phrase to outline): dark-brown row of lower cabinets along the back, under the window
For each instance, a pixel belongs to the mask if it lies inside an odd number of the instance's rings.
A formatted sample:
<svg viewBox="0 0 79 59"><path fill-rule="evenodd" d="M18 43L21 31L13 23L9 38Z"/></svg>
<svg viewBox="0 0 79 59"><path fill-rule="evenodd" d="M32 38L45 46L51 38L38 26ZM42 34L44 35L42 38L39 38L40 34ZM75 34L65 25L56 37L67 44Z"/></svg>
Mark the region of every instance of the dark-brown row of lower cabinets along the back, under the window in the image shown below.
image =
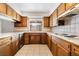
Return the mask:
<svg viewBox="0 0 79 59"><path fill-rule="evenodd" d="M24 33L24 44L46 44L46 33Z"/></svg>

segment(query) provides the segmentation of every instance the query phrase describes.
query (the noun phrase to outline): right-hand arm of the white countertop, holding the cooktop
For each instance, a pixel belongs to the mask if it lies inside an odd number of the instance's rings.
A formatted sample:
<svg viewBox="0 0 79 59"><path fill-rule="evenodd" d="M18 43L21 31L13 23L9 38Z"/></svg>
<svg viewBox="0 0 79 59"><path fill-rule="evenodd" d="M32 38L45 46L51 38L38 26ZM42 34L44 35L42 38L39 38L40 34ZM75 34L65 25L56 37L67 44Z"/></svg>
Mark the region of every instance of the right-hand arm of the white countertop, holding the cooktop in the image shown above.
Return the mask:
<svg viewBox="0 0 79 59"><path fill-rule="evenodd" d="M70 43L73 43L75 45L78 45L79 46L79 37L75 37L75 38L69 38L69 37L64 37L63 35L56 35L52 32L47 32L48 35L53 35L53 36L56 36L62 40L65 40L65 41L68 41ZM52 37L53 39L53 37Z"/></svg>

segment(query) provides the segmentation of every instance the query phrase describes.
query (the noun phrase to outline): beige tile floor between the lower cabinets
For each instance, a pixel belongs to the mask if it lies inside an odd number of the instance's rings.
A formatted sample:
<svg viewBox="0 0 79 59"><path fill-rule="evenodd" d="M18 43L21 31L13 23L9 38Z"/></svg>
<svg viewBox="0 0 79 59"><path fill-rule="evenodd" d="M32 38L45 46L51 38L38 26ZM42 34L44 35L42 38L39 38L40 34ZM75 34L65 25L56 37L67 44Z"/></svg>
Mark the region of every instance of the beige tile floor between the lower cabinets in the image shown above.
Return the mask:
<svg viewBox="0 0 79 59"><path fill-rule="evenodd" d="M52 56L47 45L30 44L24 45L15 56Z"/></svg>

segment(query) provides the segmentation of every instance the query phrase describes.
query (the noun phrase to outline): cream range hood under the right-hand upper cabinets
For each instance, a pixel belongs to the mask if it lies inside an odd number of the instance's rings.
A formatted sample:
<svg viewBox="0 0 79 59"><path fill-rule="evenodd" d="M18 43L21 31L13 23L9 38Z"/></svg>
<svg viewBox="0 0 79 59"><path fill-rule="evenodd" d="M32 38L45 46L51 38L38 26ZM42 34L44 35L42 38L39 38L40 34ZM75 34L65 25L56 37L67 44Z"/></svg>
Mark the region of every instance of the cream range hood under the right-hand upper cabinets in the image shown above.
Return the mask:
<svg viewBox="0 0 79 59"><path fill-rule="evenodd" d="M77 4L73 9L69 9L68 11L64 12L62 15L58 17L58 19L62 17L72 17L77 14L79 14L79 4Z"/></svg>

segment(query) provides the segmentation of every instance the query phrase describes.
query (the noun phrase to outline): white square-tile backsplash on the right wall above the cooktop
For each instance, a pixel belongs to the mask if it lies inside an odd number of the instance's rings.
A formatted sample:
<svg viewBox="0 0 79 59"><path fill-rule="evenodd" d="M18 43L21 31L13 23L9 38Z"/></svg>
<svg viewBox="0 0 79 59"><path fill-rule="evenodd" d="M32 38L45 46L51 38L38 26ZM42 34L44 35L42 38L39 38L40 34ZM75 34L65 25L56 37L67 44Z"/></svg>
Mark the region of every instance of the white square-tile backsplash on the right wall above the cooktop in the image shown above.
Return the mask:
<svg viewBox="0 0 79 59"><path fill-rule="evenodd" d="M65 20L64 26L56 26L52 28L55 33L68 33L79 35L79 15L75 15Z"/></svg>

